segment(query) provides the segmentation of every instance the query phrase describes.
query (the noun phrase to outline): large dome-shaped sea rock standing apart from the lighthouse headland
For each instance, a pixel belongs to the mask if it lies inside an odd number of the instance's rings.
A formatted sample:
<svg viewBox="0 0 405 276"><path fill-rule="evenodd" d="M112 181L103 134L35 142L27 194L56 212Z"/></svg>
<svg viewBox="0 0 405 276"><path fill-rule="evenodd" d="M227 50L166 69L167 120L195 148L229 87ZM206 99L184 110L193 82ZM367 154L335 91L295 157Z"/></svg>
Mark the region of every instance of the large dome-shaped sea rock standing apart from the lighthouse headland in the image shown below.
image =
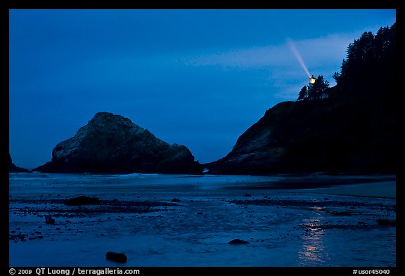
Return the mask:
<svg viewBox="0 0 405 276"><path fill-rule="evenodd" d="M130 119L98 112L33 171L56 173L202 173L184 145L169 145Z"/></svg>

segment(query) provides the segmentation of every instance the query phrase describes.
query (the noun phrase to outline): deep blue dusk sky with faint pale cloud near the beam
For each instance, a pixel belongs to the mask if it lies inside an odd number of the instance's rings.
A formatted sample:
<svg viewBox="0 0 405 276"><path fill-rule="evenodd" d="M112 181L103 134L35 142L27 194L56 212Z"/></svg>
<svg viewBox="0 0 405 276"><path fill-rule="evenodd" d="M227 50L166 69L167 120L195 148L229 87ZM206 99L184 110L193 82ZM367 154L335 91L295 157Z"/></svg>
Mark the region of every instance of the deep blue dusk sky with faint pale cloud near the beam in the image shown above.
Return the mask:
<svg viewBox="0 0 405 276"><path fill-rule="evenodd" d="M201 163L231 151L310 74L335 85L347 45L395 10L11 10L10 153L33 169L96 112Z"/></svg>

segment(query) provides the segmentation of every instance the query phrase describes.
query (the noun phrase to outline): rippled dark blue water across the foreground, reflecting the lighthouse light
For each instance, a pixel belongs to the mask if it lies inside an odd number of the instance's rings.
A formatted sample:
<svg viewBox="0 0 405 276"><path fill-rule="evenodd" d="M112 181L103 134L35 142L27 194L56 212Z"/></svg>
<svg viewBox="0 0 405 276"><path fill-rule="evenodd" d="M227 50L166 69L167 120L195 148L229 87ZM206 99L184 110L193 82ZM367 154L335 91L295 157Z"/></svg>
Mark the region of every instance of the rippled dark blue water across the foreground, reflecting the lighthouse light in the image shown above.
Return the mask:
<svg viewBox="0 0 405 276"><path fill-rule="evenodd" d="M395 199L302 189L345 180L11 173L9 264L396 266L396 228L378 223L395 218ZM79 195L101 204L63 204ZM45 223L48 215L54 224ZM126 254L127 263L106 260L107 251Z"/></svg>

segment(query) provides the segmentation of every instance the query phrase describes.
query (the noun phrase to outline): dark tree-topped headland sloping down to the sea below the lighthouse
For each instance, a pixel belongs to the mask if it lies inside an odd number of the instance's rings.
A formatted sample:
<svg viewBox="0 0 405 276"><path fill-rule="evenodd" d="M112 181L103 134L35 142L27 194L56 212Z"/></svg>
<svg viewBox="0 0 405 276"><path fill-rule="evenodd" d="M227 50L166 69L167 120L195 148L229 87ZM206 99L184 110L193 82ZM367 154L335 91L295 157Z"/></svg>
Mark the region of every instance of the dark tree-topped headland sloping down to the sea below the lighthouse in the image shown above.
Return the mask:
<svg viewBox="0 0 405 276"><path fill-rule="evenodd" d="M311 86L311 93L324 86L328 98L301 94L298 102L275 105L229 155L205 166L211 173L396 173L396 35L396 23L364 32L333 74L337 85Z"/></svg>

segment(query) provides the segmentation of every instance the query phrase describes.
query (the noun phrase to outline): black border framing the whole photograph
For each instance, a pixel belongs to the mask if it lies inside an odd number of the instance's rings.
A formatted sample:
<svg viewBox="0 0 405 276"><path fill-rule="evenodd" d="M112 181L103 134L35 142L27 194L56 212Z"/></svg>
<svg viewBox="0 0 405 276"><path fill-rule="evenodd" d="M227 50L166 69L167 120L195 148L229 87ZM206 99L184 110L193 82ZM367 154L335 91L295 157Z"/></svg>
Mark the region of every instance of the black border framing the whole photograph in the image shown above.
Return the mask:
<svg viewBox="0 0 405 276"><path fill-rule="evenodd" d="M8 35L9 35L9 13L10 9L132 9L132 8L164 8L164 9L195 9L195 8L203 8L203 9L265 9L265 8L272 8L272 9L396 9L397 10L397 49L405 49L405 44L401 37L405 37L405 27L404 27L404 1L403 0L383 0L383 1L364 1L364 0L352 0L352 1L330 1L330 0L288 0L288 1L233 1L232 5L229 4L230 2L226 1L212 1L212 0L205 0L205 1L154 1L154 0L53 0L53 1L46 1L46 0L2 0L0 1L0 37L1 37L1 47L0 52L0 60L1 60L1 69L0 69L0 119L1 119L1 138L0 138L0 156L4 162L1 162L3 166L1 166L1 218L2 224L7 222L8 225L8 177L6 172L6 164L8 164L8 145L9 145L9 94L8 94L8 85L9 85L9 72L8 72L8 64L9 64L9 44L8 44ZM404 66L404 50L399 50L397 52L398 55L398 65L397 65L397 72L398 72L398 79L399 81L403 79L401 76L405 76ZM401 86L404 86L402 84ZM399 86L400 87L400 86ZM402 88L403 89L403 88ZM400 91L400 90L399 90ZM398 93L399 93L398 91ZM398 126L405 126L404 121L404 108L402 107L402 103L400 98L397 100L397 125ZM404 188L405 180L403 178L403 165L401 165L402 161L402 146L401 142L405 141L403 134L401 133L400 129L398 129L397 137L398 137L398 144L399 144L399 155L398 155L398 167L397 167L397 266L394 268L375 268L375 269L389 269L390 275L397 275L400 271L404 270L404 263L401 260L404 260L404 249L405 249L405 242L404 242L404 228L401 225L404 216L404 204L403 204L403 195L404 195ZM7 132L5 131L7 130ZM6 133L6 135L5 135ZM8 270L8 245L5 247L3 244L8 244L8 227L1 227L1 239L4 239L1 244L2 251L6 251L5 254L1 254L1 264L2 267L6 267L6 271ZM184 275L190 275L191 273L198 272L218 272L218 273L243 273L243 274L264 274L265 272L276 272L276 273L294 273L295 275L299 275L300 273L304 274L311 274L311 275L325 275L328 272L338 272L340 275L353 275L353 270L368 270L373 268L295 268L295 267L276 267L276 268L134 268L141 270L141 275L156 275L156 274L166 274L166 273L180 273ZM405 271L405 270L404 270ZM8 274L10 275L10 274Z"/></svg>

